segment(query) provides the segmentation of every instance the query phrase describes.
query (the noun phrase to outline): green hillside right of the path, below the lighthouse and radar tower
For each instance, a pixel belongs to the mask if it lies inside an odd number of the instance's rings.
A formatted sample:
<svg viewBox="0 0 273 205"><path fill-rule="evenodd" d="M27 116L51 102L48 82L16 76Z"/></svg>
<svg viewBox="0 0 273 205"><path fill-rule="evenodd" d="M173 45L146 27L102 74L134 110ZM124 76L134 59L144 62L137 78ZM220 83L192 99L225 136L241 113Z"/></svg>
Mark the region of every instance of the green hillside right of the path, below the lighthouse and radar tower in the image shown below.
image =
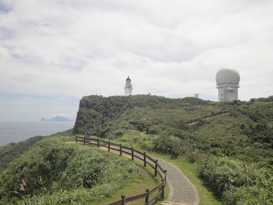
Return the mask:
<svg viewBox="0 0 273 205"><path fill-rule="evenodd" d="M200 167L199 176L222 197L224 203L255 204L260 201L266 204L272 201L272 99L215 103L194 97L119 97L116 96L115 100L112 97L84 97L77 119L85 118L87 125L81 127L76 121L74 132L92 132L126 146L138 143L144 150L170 154L195 163ZM91 103L93 99L96 104ZM100 109L103 104L100 101L114 105L113 115L104 115L103 121L101 115L108 111L107 108ZM183 124L211 112L230 109L235 110L206 121L199 120L193 125ZM97 119L99 123L94 124ZM222 163L226 167L218 169ZM245 179L255 183L244 183ZM261 193L260 189L266 192ZM262 199L260 194L265 197Z"/></svg>

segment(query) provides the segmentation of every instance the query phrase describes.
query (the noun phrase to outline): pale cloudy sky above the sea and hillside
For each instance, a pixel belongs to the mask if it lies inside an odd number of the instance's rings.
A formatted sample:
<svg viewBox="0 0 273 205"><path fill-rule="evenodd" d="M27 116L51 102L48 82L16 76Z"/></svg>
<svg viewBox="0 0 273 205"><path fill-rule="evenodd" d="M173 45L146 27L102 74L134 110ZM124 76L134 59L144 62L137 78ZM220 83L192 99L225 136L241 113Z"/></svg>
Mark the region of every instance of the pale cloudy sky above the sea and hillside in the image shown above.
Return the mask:
<svg viewBox="0 0 273 205"><path fill-rule="evenodd" d="M0 0L0 121L76 119L83 96L273 95L273 1Z"/></svg>

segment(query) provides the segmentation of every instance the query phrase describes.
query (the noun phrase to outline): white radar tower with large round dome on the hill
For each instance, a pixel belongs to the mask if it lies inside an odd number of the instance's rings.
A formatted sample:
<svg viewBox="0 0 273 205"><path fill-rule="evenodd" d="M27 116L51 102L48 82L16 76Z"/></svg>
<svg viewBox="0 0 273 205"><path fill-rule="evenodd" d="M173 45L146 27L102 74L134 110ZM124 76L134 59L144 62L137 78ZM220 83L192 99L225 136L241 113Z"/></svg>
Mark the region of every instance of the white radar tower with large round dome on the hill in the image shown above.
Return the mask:
<svg viewBox="0 0 273 205"><path fill-rule="evenodd" d="M215 76L218 89L218 102L238 100L238 87L240 74L231 66L225 66L218 70Z"/></svg>

